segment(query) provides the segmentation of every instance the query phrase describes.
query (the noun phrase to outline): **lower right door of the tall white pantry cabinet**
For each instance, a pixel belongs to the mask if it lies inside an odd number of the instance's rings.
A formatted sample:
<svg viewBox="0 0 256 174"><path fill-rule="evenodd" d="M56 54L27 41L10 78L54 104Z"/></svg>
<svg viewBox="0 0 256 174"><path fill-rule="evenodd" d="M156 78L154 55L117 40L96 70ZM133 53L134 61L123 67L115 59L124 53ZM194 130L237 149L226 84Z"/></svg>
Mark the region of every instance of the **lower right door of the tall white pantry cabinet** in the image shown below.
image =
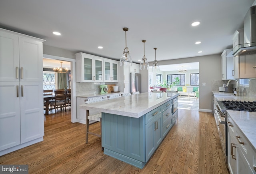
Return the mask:
<svg viewBox="0 0 256 174"><path fill-rule="evenodd" d="M43 84L21 82L20 90L20 133L24 143L44 136Z"/></svg>

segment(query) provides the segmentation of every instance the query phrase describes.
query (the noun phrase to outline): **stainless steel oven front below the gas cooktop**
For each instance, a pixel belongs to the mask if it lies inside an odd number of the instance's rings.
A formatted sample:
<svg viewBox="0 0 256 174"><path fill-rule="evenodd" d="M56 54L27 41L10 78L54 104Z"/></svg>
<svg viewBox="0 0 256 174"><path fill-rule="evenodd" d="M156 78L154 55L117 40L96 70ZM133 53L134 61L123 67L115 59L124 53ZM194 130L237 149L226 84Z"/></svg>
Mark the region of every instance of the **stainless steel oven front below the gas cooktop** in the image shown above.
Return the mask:
<svg viewBox="0 0 256 174"><path fill-rule="evenodd" d="M216 102L216 109L214 110L215 116L216 116L216 123L218 132L220 134L220 143L222 145L223 152L226 156L226 163L228 162L228 140L227 140L227 133L228 133L228 127L227 127L227 118L226 118L226 110L223 109L221 101Z"/></svg>

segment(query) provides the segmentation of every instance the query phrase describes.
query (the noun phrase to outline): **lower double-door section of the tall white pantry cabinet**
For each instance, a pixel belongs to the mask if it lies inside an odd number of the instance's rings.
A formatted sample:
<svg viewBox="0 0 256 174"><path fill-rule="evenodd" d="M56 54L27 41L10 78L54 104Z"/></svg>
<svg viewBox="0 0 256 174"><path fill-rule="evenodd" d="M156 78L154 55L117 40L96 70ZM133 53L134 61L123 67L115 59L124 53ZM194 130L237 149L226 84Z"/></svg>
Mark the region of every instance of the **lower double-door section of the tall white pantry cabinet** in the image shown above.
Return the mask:
<svg viewBox="0 0 256 174"><path fill-rule="evenodd" d="M42 89L42 82L0 82L0 151L44 136Z"/></svg>

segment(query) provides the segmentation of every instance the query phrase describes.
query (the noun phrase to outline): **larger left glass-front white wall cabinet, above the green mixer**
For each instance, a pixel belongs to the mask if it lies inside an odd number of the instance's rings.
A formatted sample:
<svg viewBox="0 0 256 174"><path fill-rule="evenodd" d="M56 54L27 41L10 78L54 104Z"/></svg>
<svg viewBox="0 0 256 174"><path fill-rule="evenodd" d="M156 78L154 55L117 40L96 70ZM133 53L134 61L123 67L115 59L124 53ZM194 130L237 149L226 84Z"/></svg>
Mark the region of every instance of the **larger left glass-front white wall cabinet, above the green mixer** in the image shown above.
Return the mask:
<svg viewBox="0 0 256 174"><path fill-rule="evenodd" d="M103 82L104 59L85 53L76 54L76 82Z"/></svg>

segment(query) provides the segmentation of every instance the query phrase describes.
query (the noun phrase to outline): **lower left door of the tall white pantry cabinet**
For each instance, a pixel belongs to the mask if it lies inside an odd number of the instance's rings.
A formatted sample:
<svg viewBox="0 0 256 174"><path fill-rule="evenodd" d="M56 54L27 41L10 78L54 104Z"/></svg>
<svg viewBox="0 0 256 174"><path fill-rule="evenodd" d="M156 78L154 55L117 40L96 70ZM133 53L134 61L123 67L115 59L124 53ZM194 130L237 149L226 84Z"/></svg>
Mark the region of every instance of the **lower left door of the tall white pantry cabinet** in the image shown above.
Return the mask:
<svg viewBox="0 0 256 174"><path fill-rule="evenodd" d="M18 85L18 82L0 82L0 151L20 144Z"/></svg>

